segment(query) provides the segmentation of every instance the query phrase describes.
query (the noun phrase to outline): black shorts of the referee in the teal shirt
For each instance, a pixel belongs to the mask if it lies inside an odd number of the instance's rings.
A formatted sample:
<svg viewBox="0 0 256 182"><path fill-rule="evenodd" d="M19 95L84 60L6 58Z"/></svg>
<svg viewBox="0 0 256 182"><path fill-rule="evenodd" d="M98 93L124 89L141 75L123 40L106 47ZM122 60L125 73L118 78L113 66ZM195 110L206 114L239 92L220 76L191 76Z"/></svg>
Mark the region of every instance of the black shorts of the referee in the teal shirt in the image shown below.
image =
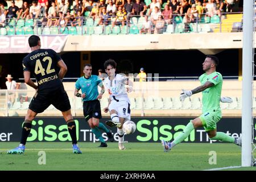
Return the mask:
<svg viewBox="0 0 256 182"><path fill-rule="evenodd" d="M84 117L86 121L90 118L101 118L101 104L98 100L84 101Z"/></svg>

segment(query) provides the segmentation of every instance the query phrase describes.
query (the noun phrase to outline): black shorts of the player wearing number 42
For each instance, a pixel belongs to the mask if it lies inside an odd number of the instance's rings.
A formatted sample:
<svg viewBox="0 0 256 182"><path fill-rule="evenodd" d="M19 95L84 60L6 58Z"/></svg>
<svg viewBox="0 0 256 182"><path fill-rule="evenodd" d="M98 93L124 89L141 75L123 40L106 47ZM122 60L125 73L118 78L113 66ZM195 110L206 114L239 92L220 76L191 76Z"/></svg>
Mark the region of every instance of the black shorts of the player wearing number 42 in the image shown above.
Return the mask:
<svg viewBox="0 0 256 182"><path fill-rule="evenodd" d="M35 113L43 113L44 110L53 105L56 109L64 112L71 109L67 92L63 86L56 90L43 90L35 94L28 107Z"/></svg>

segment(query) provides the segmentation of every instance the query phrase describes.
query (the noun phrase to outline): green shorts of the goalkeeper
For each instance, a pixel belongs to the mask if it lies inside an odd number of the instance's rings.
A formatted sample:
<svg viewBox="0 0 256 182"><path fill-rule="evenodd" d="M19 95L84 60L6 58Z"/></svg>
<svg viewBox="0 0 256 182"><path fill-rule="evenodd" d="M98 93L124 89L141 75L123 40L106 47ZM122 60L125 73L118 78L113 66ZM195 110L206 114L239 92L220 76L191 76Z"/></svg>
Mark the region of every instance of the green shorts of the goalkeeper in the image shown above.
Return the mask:
<svg viewBox="0 0 256 182"><path fill-rule="evenodd" d="M205 131L217 129L217 122L220 121L222 115L221 110L209 110L200 115L201 122L203 123Z"/></svg>

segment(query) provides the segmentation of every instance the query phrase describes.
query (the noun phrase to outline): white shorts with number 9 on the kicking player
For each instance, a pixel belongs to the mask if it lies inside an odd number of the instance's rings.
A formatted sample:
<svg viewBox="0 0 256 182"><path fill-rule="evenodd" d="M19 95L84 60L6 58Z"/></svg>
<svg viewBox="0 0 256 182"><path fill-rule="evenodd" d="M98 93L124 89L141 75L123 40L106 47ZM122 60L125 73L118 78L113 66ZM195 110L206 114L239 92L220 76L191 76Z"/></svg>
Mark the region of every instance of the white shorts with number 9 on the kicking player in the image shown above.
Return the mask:
<svg viewBox="0 0 256 182"><path fill-rule="evenodd" d="M109 105L109 111L116 110L118 117L131 119L130 104L127 101L111 101Z"/></svg>

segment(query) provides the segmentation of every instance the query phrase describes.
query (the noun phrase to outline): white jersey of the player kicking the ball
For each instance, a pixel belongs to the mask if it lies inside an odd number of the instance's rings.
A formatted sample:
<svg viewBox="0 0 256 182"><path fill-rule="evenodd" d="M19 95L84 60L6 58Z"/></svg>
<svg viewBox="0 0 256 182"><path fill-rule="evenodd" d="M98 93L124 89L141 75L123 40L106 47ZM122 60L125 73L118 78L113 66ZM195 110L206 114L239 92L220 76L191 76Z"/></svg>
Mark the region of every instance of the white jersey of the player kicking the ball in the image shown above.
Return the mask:
<svg viewBox="0 0 256 182"><path fill-rule="evenodd" d="M109 80L107 77L103 84L109 92L110 100L113 101L126 101L130 104L130 100L128 98L126 88L125 88L125 81L127 80L126 77L116 74L112 81Z"/></svg>

